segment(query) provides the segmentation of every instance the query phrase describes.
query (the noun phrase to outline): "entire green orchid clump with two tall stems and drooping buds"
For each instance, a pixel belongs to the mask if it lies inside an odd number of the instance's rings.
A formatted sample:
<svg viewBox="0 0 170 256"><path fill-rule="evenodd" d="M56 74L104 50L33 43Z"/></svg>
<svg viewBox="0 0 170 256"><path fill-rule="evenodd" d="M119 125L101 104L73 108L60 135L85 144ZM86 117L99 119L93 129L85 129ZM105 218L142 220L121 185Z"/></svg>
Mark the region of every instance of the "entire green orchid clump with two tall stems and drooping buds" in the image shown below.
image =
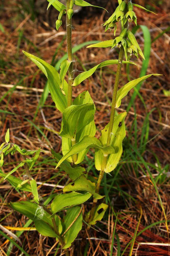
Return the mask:
<svg viewBox="0 0 170 256"><path fill-rule="evenodd" d="M16 144L9 143L9 130L6 133L6 142L0 146L0 166L2 168L4 164L4 156L15 152L19 152L23 156L23 161L8 174L3 173L1 170L0 176L7 179L16 190L32 192L33 199L31 201L11 203L12 208L34 221L35 227L40 234L54 237L58 240L62 249L65 250L65 255L69 255L68 248L82 229L83 219L88 224L89 229L97 221L102 220L108 208L105 203L98 204L98 201L104 198L103 195L100 195L100 183L104 173L114 171L119 163L122 155L122 141L126 135L125 117L127 113L117 114L116 108L120 107L122 99L134 86L151 77L151 75L159 74L149 74L134 79L118 90L122 64L136 65L136 63L130 61L132 55L136 56L136 58L140 56L144 59L142 50L130 31L130 23L134 22L137 25L137 17L133 10L134 6L145 9L140 5L133 4L131 0L118 0L116 10L103 24L105 31L110 30L113 33L113 39L88 46L88 48L118 47L118 60L105 60L74 77L71 40L73 6L93 5L83 0L66 0L66 5L63 5L59 0L48 0L48 2L48 8L52 5L59 11L59 16L56 20L57 30L62 25L63 17L66 17L68 59L62 61L60 72L57 72L53 66L44 60L28 52L23 51L23 53L46 75L51 97L56 108L62 113L62 124L59 133L62 137L62 155L53 149L51 149L51 153L56 160L56 169L61 166L71 179L71 182L65 185L62 193L54 195L47 203L40 203L36 181L30 175L30 170L39 157L40 149L26 151L25 149L20 149ZM99 6L94 7L98 8ZM118 22L121 23L121 33L115 37ZM110 122L101 131L100 138L97 139L95 137L96 126L94 122L96 108L93 99L88 91L83 91L73 100L72 89L73 86L80 85L85 79L93 75L96 69L113 64L117 65L117 72L113 88ZM91 181L93 179L90 178L90 174L80 165L89 149L95 149L94 162L96 170L99 171L99 177L96 182ZM31 154L35 154L34 157L27 159L26 156ZM24 180L12 176L12 173L22 166L26 171ZM91 210L83 216L81 205L92 198Z"/></svg>

